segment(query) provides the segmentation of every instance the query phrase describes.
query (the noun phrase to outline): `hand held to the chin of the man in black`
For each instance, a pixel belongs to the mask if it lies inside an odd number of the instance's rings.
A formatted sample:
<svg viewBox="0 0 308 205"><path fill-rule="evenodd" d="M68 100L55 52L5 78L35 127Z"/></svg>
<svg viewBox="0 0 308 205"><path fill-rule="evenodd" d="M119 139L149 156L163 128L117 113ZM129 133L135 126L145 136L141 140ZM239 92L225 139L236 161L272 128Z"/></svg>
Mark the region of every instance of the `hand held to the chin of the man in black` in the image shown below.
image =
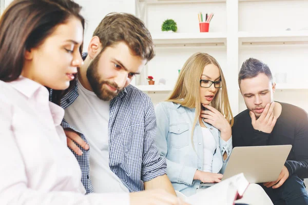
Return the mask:
<svg viewBox="0 0 308 205"><path fill-rule="evenodd" d="M256 120L256 115L254 112L249 111L249 115L252 118L252 125L255 130L259 130L265 133L271 133L276 124L277 118L274 116L274 106L275 102L267 104L259 117Z"/></svg>

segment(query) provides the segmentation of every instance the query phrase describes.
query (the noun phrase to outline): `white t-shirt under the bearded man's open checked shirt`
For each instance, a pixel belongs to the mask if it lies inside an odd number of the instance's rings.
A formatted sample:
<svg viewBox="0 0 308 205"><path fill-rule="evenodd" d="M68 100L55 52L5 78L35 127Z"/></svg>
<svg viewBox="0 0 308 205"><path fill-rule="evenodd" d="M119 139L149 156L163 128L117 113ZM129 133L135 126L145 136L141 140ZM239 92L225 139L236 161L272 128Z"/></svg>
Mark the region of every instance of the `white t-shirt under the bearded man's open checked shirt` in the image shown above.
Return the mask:
<svg viewBox="0 0 308 205"><path fill-rule="evenodd" d="M65 120L83 133L90 146L90 177L95 193L129 192L109 168L108 121L110 101L98 98L78 80L78 98L65 109Z"/></svg>

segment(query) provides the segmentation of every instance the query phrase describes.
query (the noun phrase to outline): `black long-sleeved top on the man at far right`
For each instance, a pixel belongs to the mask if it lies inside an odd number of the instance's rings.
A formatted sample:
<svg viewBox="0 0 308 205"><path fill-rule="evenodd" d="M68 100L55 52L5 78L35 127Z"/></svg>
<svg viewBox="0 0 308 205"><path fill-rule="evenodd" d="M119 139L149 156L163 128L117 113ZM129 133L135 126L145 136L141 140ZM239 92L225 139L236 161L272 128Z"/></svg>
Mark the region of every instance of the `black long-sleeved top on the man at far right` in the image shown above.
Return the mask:
<svg viewBox="0 0 308 205"><path fill-rule="evenodd" d="M238 114L232 127L233 147L292 145L285 166L290 176L296 173L308 178L308 114L299 107L279 104L282 111L272 133L255 130L248 110Z"/></svg>

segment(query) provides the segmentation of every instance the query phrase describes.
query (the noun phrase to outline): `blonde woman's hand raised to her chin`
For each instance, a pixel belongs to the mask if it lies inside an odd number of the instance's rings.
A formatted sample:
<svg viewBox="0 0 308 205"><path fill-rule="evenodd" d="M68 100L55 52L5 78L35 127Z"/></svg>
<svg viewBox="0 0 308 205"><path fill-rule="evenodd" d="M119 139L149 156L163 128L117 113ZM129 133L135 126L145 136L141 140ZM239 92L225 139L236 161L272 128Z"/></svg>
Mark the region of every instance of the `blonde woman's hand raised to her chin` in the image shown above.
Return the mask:
<svg viewBox="0 0 308 205"><path fill-rule="evenodd" d="M208 110L202 110L200 117L204 118L203 121L217 128L221 133L221 138L227 141L232 134L231 126L227 119L215 108L203 104L202 106Z"/></svg>

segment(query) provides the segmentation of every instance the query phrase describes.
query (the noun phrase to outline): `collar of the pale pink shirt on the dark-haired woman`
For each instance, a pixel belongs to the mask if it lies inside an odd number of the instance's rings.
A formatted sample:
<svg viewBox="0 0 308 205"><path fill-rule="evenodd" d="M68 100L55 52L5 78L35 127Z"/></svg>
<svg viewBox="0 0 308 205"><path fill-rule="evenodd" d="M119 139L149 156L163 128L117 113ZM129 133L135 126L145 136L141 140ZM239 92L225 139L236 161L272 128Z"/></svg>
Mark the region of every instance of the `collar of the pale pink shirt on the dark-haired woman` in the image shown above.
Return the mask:
<svg viewBox="0 0 308 205"><path fill-rule="evenodd" d="M22 75L16 80L9 82L9 84L28 99L33 99L35 103L41 104L42 106L48 103L54 125L59 126L61 124L64 117L64 110L48 100L49 92L47 88Z"/></svg>

